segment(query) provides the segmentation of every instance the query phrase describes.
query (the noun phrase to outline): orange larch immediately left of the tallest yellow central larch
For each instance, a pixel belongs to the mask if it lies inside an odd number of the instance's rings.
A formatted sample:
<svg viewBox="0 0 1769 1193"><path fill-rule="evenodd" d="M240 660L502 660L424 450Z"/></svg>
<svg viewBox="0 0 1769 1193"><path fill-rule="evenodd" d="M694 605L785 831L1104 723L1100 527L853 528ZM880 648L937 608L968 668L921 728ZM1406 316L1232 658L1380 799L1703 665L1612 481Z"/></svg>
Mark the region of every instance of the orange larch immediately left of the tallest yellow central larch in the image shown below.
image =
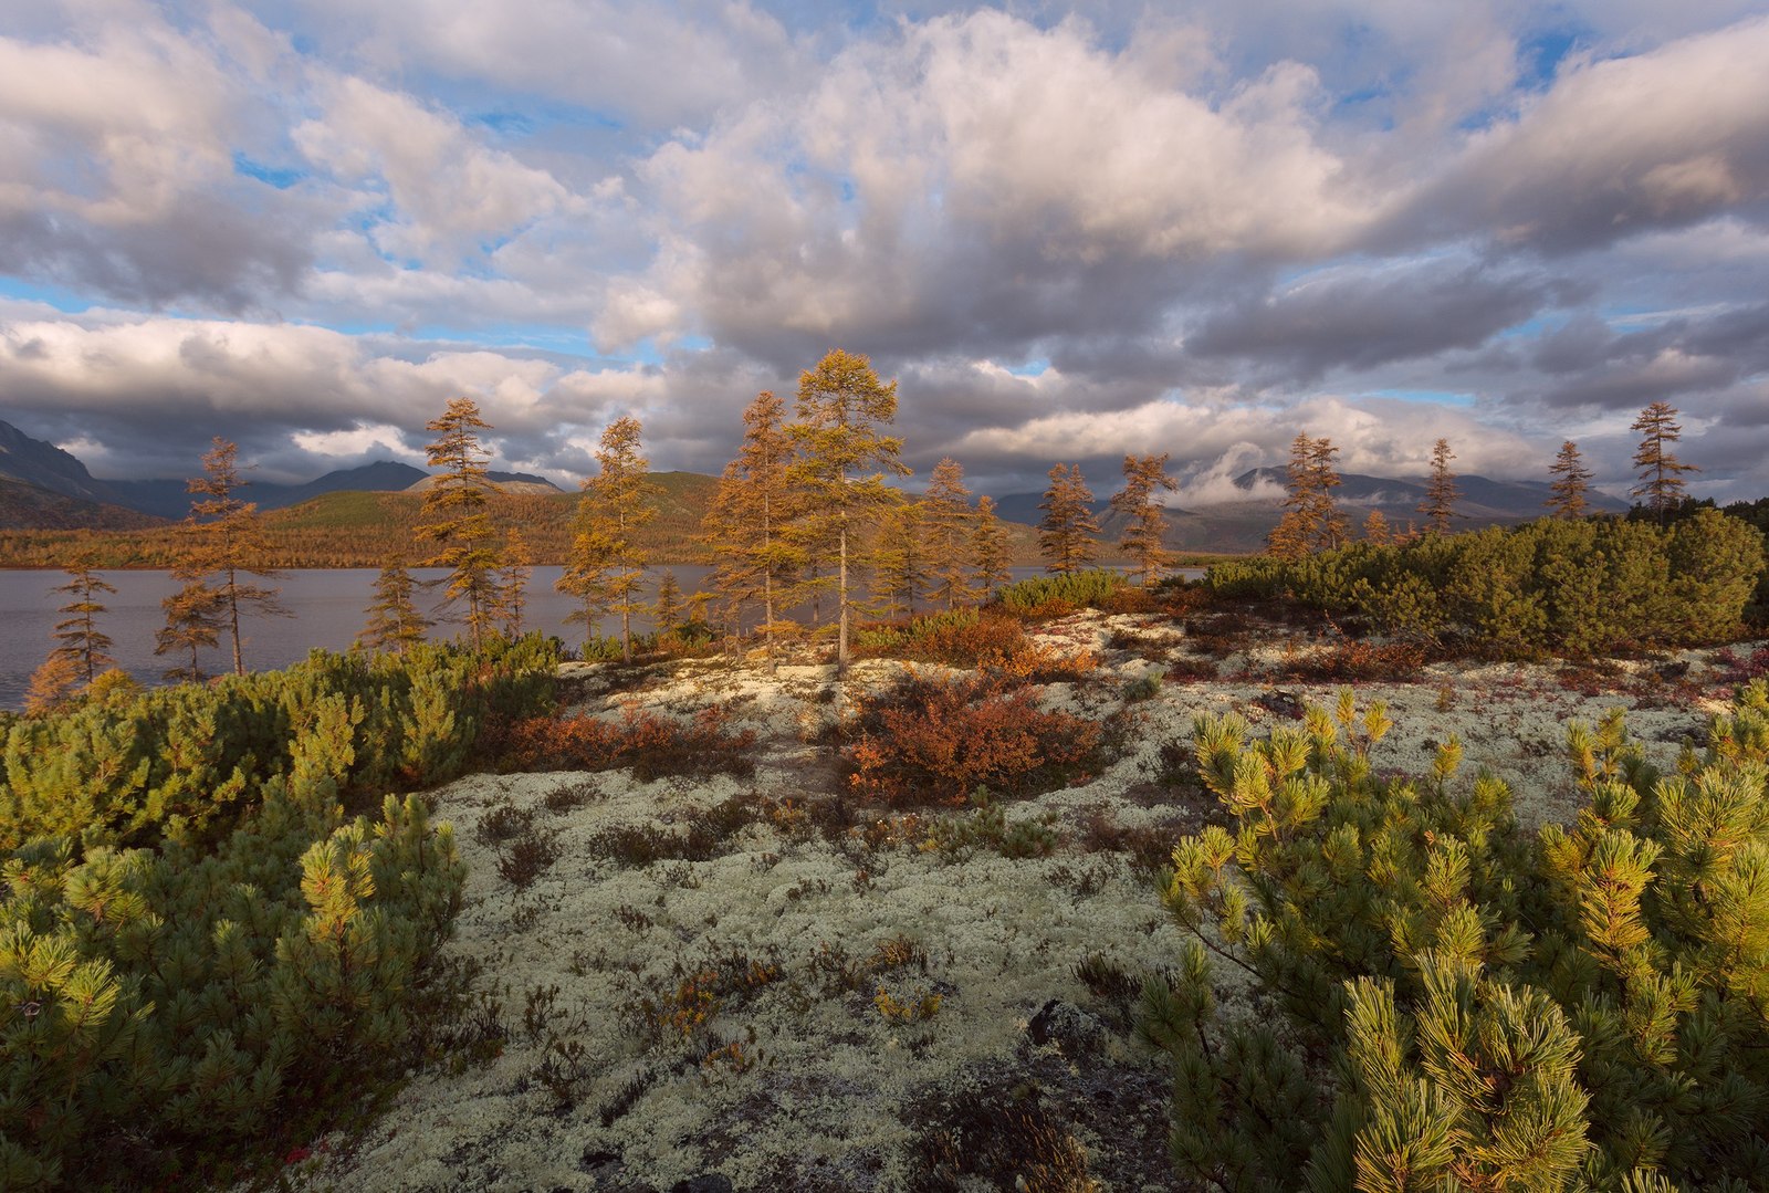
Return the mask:
<svg viewBox="0 0 1769 1193"><path fill-rule="evenodd" d="M718 589L739 605L761 604L770 671L775 639L796 628L780 616L778 602L805 563L803 547L782 533L793 517L791 460L785 402L764 389L743 411L743 446L725 467L701 526Z"/></svg>

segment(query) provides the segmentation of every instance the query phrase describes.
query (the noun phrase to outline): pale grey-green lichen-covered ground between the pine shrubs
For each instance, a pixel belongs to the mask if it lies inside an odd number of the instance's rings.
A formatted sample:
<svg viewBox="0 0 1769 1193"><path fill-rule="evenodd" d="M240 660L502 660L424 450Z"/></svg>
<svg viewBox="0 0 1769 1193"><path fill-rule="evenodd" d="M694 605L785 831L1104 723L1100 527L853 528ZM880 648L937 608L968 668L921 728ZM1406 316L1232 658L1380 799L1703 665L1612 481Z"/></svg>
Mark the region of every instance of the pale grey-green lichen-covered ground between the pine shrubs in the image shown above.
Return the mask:
<svg viewBox="0 0 1769 1193"><path fill-rule="evenodd" d="M1152 667L1198 658L1155 614L1077 614L1038 635L1100 655L1090 680L1042 690L1093 717L1125 708ZM1219 644L1219 678L1129 704L1130 731L1091 781L1007 805L1008 825L1056 839L1021 858L930 848L948 812L854 805L826 743L840 715L830 667L571 667L589 712L725 708L759 735L755 774L471 775L437 791L471 867L446 949L478 972L471 1005L366 1135L317 1140L288 1175L377 1191L1182 1188L1166 1165L1168 1080L1129 1014L1141 977L1180 951L1152 867L1210 814L1171 759L1196 713L1268 727L1336 694L1267 678L1318 644L1256 641ZM851 683L899 669L865 662ZM1535 825L1574 805L1569 720L1626 708L1670 761L1727 681L1712 653L1681 653L1438 664L1357 689L1396 722L1380 768L1424 772L1454 735L1465 775L1505 779ZM532 878L515 864L524 839L552 846Z"/></svg>

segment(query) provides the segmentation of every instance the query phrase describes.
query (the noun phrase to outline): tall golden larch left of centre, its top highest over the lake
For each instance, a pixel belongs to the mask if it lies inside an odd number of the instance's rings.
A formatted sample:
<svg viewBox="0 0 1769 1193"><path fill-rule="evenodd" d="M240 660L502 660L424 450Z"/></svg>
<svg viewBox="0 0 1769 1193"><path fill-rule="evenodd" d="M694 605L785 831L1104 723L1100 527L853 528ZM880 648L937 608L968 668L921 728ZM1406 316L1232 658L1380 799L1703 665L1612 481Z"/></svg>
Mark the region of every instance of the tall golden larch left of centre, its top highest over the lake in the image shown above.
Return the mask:
<svg viewBox="0 0 1769 1193"><path fill-rule="evenodd" d="M425 490L425 515L437 520L419 526L417 538L437 543L437 554L423 566L449 570L442 607L467 605L467 635L479 650L495 630L499 605L492 478L485 471L488 453L479 444L479 432L492 430L492 425L479 418L478 402L462 396L449 398L442 416L425 423L425 430L437 432L425 453L430 467L442 473Z"/></svg>

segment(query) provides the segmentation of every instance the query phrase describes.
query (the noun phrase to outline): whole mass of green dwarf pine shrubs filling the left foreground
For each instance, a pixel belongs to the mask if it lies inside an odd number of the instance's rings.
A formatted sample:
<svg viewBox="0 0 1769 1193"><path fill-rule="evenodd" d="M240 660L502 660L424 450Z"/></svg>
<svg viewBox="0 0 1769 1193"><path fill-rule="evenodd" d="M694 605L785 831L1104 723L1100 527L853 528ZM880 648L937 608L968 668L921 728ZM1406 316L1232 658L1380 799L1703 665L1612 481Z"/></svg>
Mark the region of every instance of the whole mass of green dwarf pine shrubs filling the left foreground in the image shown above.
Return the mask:
<svg viewBox="0 0 1769 1193"><path fill-rule="evenodd" d="M453 775L550 674L540 639L315 653L16 720L0 1188L175 1181L396 1060L463 867L417 797L341 798Z"/></svg>

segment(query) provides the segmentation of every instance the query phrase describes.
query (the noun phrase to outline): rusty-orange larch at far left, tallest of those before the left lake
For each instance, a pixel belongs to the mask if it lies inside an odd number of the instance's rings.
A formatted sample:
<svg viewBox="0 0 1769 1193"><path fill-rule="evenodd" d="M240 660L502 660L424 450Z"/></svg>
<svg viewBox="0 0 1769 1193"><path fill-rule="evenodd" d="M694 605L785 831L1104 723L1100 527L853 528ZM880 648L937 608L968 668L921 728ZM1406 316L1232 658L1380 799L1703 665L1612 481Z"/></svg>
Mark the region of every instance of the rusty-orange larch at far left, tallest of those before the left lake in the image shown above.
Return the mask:
<svg viewBox="0 0 1769 1193"><path fill-rule="evenodd" d="M189 481L198 496L191 503L191 517L184 550L172 566L173 579L202 581L219 602L221 628L234 644L234 674L246 674L241 651L239 611L242 607L287 618L288 609L276 598L274 588L246 584L242 575L274 577L265 566L269 543L258 506L237 497L249 481L241 476L239 448L216 435L214 448L203 453L203 474Z"/></svg>

